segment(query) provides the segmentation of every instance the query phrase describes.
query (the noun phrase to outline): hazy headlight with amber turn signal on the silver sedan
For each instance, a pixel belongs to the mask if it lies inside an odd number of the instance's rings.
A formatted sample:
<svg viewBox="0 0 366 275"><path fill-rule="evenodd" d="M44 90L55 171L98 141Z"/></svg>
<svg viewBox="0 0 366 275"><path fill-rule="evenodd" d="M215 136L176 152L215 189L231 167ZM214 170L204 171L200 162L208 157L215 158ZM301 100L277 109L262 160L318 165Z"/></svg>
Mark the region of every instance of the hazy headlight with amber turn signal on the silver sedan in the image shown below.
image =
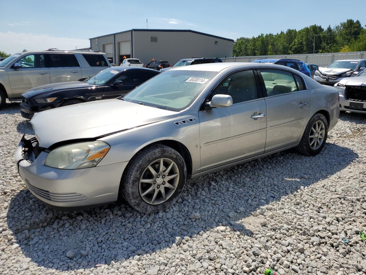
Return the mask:
<svg viewBox="0 0 366 275"><path fill-rule="evenodd" d="M107 143L100 140L61 146L48 154L45 165L58 169L94 167L107 154L109 148Z"/></svg>

